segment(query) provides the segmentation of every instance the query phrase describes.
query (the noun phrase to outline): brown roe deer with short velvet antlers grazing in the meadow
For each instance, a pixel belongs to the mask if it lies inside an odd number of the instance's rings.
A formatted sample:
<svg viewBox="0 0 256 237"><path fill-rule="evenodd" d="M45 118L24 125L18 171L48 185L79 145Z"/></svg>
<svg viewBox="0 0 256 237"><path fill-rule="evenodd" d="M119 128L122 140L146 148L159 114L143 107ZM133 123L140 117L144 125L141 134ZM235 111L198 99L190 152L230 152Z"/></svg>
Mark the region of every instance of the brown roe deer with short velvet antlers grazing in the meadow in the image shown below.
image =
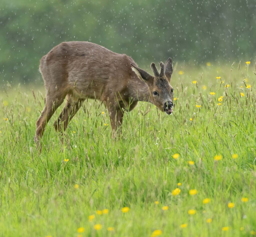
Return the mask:
<svg viewBox="0 0 256 237"><path fill-rule="evenodd" d="M151 102L161 111L171 114L172 59L169 58L165 65L160 63L160 73L154 63L151 68L154 77L138 68L131 57L90 42L57 45L40 60L46 98L45 107L36 122L35 142L39 146L47 122L66 96L66 105L54 122L55 130L61 133L86 98L99 99L106 104L112 136L123 122L121 108L130 111L138 101Z"/></svg>

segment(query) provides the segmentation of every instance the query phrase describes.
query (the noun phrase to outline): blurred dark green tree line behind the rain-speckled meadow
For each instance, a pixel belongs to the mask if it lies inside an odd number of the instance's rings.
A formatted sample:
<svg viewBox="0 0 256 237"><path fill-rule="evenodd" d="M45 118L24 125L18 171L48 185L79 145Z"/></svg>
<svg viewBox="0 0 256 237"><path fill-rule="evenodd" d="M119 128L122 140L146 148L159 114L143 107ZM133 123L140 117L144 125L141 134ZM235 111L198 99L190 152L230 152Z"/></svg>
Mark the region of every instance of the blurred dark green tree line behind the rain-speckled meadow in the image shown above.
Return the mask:
<svg viewBox="0 0 256 237"><path fill-rule="evenodd" d="M170 56L253 61L255 39L254 0L1 0L0 81L34 82L40 58L62 41L94 42L149 69Z"/></svg>

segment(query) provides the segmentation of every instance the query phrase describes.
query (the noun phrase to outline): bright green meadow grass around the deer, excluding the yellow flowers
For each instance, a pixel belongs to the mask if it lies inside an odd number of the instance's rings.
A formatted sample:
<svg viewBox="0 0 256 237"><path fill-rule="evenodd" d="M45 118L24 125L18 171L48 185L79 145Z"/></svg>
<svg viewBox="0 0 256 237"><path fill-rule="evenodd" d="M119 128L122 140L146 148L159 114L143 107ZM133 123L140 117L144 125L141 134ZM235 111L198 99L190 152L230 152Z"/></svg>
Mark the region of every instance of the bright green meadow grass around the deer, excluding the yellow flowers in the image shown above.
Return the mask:
<svg viewBox="0 0 256 237"><path fill-rule="evenodd" d="M251 235L256 231L256 77L252 63L248 71L244 63L240 71L237 67L238 63L231 72L229 66L176 65L171 84L178 100L173 115L140 103L125 113L117 141L104 125L110 124L104 105L88 100L69 124L63 146L52 126L59 108L48 123L41 154L33 137L44 90L36 85L4 86L0 236L78 236L79 227L84 228L81 236L151 236L156 229L162 236ZM179 75L180 70L184 74ZM246 89L246 78L251 88ZM222 159L215 161L215 155ZM195 164L189 165L189 160ZM177 187L181 191L173 196ZM190 195L191 189L197 194ZM203 204L204 198L210 202ZM123 207L129 212L122 213ZM98 215L103 209L109 213ZM189 209L196 214L189 215ZM95 215L92 221L90 215ZM181 228L184 223L187 227ZM95 230L95 224L101 229Z"/></svg>

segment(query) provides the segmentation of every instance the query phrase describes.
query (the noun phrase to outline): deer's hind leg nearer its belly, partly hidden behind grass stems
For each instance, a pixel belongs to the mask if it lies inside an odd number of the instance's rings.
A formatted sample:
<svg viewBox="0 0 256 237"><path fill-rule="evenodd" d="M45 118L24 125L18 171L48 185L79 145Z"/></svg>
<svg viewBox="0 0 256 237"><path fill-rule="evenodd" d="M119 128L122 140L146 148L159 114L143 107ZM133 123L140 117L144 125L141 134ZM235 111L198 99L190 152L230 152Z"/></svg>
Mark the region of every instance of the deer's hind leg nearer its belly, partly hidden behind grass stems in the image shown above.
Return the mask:
<svg viewBox="0 0 256 237"><path fill-rule="evenodd" d="M79 99L77 102L71 102L68 100L58 119L54 122L55 130L60 132L62 136L68 127L68 123L82 106L83 101L84 99Z"/></svg>

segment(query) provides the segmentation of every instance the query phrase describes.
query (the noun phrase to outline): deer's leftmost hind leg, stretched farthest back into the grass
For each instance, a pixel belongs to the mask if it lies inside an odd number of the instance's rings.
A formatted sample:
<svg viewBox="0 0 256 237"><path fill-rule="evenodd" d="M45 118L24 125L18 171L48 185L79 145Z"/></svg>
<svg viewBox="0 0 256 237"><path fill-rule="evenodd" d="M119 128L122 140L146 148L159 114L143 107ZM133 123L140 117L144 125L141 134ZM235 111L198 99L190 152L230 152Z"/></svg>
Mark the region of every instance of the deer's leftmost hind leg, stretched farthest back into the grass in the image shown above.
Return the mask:
<svg viewBox="0 0 256 237"><path fill-rule="evenodd" d="M36 122L36 134L35 134L34 141L37 144L37 147L40 147L39 139L44 134L46 124L49 122L55 110L62 104L65 96L66 96L66 93L63 94L63 93L57 93L57 92L52 92L52 94L48 94L46 96L45 107L39 119ZM41 151L41 147L40 147L40 151Z"/></svg>

